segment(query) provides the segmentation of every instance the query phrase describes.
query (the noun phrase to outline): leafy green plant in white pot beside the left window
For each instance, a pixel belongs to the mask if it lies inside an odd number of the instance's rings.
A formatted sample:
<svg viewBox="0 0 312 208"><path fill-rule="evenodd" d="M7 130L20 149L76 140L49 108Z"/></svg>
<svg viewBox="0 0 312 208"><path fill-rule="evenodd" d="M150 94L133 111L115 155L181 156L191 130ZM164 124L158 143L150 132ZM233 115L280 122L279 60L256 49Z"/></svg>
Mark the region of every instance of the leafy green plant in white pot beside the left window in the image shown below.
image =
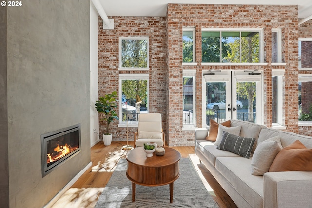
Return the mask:
<svg viewBox="0 0 312 208"><path fill-rule="evenodd" d="M106 122L106 130L103 134L104 145L110 145L113 135L109 132L109 125L114 119L119 120L115 109L117 108L117 92L114 91L111 94L106 94L104 97L100 97L96 101L96 109L99 113L103 113L103 121Z"/></svg>

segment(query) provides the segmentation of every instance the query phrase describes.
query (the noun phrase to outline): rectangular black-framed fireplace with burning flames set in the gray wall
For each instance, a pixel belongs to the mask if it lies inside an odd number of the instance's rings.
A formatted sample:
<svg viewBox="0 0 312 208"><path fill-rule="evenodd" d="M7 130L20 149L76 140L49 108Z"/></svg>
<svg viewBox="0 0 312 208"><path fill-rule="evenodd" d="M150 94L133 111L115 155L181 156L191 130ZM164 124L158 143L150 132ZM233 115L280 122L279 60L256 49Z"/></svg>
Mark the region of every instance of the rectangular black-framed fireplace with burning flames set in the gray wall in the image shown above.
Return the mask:
<svg viewBox="0 0 312 208"><path fill-rule="evenodd" d="M42 177L80 151L80 131L80 124L77 124L41 135Z"/></svg>

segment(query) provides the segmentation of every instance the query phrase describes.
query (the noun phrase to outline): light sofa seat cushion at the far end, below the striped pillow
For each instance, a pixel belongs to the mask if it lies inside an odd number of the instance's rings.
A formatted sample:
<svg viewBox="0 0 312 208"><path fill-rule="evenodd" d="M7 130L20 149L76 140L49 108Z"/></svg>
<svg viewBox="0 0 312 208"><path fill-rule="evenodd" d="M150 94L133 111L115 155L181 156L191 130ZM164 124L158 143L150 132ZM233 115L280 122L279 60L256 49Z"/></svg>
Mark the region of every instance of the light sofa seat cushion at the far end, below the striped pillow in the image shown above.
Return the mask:
<svg viewBox="0 0 312 208"><path fill-rule="evenodd" d="M215 159L217 157L239 157L239 155L234 154L229 151L218 150L216 145L207 140L196 140L195 150L200 151L202 155L215 167ZM198 154L196 152L196 154Z"/></svg>

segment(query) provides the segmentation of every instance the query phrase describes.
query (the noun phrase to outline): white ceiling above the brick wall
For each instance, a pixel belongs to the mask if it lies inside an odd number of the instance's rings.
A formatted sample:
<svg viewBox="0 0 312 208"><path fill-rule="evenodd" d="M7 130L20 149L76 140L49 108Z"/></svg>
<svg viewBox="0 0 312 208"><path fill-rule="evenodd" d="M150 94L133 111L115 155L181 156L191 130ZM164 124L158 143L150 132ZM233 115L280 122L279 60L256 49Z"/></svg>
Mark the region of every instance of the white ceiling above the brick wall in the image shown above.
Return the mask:
<svg viewBox="0 0 312 208"><path fill-rule="evenodd" d="M312 0L100 0L107 16L166 16L168 3L298 5L299 18L312 15ZM261 3L259 3L261 2Z"/></svg>

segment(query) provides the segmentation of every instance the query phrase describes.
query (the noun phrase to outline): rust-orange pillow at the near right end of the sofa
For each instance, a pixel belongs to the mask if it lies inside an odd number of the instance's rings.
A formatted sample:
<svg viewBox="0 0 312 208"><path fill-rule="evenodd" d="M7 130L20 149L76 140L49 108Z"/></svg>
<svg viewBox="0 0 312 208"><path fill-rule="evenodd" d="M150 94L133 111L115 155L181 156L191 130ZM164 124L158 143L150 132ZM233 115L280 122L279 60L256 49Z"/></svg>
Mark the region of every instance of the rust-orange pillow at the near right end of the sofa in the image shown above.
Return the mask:
<svg viewBox="0 0 312 208"><path fill-rule="evenodd" d="M312 148L299 140L284 147L275 157L269 172L312 171Z"/></svg>

